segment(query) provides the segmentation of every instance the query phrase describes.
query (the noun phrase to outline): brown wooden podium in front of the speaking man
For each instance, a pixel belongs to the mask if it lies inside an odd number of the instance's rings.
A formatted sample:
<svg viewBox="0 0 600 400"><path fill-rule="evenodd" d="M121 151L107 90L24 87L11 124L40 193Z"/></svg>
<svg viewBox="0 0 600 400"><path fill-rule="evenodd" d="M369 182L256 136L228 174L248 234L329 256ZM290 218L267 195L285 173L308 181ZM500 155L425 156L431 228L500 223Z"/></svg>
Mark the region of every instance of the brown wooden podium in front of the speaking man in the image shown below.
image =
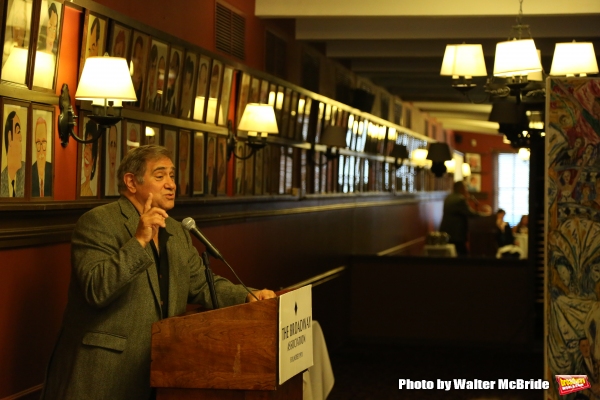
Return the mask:
<svg viewBox="0 0 600 400"><path fill-rule="evenodd" d="M157 400L302 400L302 374L278 374L279 297L167 318L152 325Z"/></svg>

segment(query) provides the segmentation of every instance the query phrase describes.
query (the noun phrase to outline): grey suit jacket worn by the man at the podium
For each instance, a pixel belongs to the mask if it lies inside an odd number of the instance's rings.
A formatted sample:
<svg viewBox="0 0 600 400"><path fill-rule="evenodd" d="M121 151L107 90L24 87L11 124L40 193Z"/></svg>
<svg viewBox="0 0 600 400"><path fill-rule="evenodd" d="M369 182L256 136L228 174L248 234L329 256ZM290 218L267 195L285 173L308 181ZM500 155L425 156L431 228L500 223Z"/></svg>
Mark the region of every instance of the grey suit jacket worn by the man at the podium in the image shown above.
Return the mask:
<svg viewBox="0 0 600 400"><path fill-rule="evenodd" d="M63 327L42 399L147 400L151 325L161 318L150 246L134 234L139 214L124 197L85 213L73 233L72 273ZM168 218L169 316L187 303L210 305L204 265L189 232ZM246 291L215 276L221 306Z"/></svg>

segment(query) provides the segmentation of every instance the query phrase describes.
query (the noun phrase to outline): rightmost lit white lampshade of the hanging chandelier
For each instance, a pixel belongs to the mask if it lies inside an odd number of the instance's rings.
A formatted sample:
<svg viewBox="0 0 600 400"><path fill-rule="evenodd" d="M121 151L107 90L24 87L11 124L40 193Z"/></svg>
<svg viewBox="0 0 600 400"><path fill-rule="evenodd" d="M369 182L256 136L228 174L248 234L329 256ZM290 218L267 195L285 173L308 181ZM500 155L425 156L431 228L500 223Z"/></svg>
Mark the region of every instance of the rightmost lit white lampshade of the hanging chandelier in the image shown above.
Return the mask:
<svg viewBox="0 0 600 400"><path fill-rule="evenodd" d="M550 75L597 74L598 62L591 42L556 43Z"/></svg>

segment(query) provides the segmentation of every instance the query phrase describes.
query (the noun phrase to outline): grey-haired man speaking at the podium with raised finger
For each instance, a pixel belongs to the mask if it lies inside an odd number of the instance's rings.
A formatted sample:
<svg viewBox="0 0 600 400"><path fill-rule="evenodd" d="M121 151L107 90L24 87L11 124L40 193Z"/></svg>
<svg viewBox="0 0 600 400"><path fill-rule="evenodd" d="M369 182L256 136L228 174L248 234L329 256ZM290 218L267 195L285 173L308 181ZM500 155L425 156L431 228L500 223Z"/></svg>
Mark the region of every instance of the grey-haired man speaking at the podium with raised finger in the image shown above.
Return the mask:
<svg viewBox="0 0 600 400"><path fill-rule="evenodd" d="M131 150L118 179L121 197L85 213L73 232L69 298L42 399L148 400L152 323L188 303L211 308L190 234L167 214L176 193L170 152ZM227 279L214 283L221 306L255 300Z"/></svg>

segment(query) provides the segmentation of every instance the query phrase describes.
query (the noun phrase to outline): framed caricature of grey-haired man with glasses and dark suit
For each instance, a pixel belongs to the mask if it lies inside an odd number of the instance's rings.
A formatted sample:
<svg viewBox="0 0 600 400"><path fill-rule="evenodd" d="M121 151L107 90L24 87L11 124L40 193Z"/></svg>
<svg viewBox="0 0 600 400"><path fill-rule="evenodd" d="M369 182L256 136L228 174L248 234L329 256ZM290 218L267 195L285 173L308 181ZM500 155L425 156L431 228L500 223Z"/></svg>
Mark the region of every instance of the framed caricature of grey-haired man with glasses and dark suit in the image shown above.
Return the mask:
<svg viewBox="0 0 600 400"><path fill-rule="evenodd" d="M31 197L52 197L54 191L54 108L33 105Z"/></svg>

